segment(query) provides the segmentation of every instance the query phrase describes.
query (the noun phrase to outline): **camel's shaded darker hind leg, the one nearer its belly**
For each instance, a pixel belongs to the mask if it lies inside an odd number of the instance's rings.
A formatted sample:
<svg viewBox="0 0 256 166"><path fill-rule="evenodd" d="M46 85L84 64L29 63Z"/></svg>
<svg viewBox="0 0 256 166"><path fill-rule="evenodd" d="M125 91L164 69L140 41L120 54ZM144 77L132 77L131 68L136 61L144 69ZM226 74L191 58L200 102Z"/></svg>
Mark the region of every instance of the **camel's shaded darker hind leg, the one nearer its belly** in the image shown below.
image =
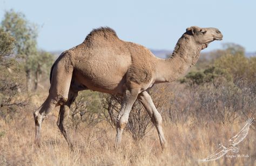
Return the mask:
<svg viewBox="0 0 256 166"><path fill-rule="evenodd" d="M59 117L57 122L57 126L59 127L60 132L62 132L66 142L68 142L69 147L71 149L73 149L73 143L70 139L67 122L69 119L70 106L72 102L75 101L77 94L77 92L72 92L70 90L68 101L64 105L60 106Z"/></svg>

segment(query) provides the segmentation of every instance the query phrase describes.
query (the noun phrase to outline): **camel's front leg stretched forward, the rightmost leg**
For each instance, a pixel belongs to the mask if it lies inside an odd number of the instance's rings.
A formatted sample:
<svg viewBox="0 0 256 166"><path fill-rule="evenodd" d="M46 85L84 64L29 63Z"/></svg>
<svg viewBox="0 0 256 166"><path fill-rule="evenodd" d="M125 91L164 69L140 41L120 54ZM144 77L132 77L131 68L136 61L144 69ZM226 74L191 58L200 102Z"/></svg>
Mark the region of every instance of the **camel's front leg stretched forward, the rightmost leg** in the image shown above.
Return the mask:
<svg viewBox="0 0 256 166"><path fill-rule="evenodd" d="M156 126L161 147L162 149L164 149L167 142L164 137L161 114L157 111L157 108L154 106L151 96L146 91L140 93L138 99L140 102L142 102L143 106L147 110L147 113L149 113L151 121L153 122L154 126Z"/></svg>

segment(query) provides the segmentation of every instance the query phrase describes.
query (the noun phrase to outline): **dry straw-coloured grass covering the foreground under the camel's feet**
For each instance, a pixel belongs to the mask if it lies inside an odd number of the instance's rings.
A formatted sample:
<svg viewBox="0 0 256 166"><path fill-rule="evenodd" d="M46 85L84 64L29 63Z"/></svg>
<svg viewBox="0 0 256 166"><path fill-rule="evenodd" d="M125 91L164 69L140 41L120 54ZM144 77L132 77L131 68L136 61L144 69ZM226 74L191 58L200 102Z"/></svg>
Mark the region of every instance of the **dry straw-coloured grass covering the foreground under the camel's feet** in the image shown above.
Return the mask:
<svg viewBox="0 0 256 166"><path fill-rule="evenodd" d="M105 124L70 130L75 151L70 151L56 126L57 117L48 116L42 127L42 147L33 144L34 122L29 112L23 120L9 123L0 121L0 165L255 165L255 123L246 139L239 145L240 155L249 157L222 157L217 161L198 163L198 158L210 155L219 143L237 134L244 120L223 125L220 122L191 127L164 124L169 146L161 151L156 129L141 142L133 142L124 132L122 148L115 150L115 130ZM228 155L237 155L232 151Z"/></svg>

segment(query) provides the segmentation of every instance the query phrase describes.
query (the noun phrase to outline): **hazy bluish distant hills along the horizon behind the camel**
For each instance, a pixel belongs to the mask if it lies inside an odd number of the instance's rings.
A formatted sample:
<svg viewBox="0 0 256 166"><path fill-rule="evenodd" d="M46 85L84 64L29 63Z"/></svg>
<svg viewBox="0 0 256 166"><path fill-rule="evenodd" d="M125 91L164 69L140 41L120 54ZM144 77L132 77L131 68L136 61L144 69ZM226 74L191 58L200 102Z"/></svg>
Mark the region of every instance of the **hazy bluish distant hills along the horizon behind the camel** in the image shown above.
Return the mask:
<svg viewBox="0 0 256 166"><path fill-rule="evenodd" d="M163 58L163 59L167 58L167 55L172 53L171 50L154 50L154 49L151 49L150 51L156 57ZM50 53L52 53L57 58L62 52L63 51L51 51ZM205 53L207 53L207 52L205 52ZM246 52L245 56L246 57L256 57L256 52Z"/></svg>

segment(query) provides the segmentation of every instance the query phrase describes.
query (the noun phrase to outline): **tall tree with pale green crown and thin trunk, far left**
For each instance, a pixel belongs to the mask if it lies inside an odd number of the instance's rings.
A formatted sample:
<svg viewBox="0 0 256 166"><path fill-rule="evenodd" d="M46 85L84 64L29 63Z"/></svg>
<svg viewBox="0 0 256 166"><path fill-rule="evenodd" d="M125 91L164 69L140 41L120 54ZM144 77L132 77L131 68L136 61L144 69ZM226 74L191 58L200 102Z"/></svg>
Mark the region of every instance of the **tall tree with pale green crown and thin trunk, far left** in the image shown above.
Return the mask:
<svg viewBox="0 0 256 166"><path fill-rule="evenodd" d="M21 12L6 11L1 23L2 29L15 38L15 54L24 59L26 89L31 88L31 64L28 63L37 54L37 28L26 20Z"/></svg>

